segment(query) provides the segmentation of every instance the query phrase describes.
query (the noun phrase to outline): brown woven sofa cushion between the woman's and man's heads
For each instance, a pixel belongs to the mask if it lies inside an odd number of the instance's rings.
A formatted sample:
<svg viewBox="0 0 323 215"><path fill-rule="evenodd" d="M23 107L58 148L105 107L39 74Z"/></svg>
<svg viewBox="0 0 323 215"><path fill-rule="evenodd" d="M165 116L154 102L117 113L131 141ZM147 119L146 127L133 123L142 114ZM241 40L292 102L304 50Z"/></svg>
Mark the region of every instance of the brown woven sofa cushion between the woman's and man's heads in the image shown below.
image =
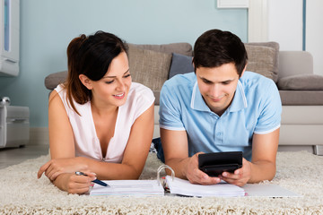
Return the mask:
<svg viewBox="0 0 323 215"><path fill-rule="evenodd" d="M140 82L152 90L161 90L169 75L171 54L129 44L127 55L133 82Z"/></svg>

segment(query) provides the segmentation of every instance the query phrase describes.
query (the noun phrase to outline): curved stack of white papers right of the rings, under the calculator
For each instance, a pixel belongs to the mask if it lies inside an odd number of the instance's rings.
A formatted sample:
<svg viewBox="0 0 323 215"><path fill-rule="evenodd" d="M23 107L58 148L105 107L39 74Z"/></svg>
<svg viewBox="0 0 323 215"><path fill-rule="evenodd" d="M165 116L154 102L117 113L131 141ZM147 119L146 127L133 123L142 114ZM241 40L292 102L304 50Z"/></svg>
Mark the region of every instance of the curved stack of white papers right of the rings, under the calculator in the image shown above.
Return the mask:
<svg viewBox="0 0 323 215"><path fill-rule="evenodd" d="M188 196L244 196L245 191L237 185L220 183L217 185L193 185L188 180L166 176L170 193Z"/></svg>

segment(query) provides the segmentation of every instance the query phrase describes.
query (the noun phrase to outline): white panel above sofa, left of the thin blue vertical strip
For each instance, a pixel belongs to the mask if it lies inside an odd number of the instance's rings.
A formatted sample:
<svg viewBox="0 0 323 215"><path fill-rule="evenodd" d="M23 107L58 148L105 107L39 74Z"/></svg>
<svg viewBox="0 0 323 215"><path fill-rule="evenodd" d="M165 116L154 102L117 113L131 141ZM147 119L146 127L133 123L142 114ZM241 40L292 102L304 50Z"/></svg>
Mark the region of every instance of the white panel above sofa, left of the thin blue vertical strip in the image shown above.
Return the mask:
<svg viewBox="0 0 323 215"><path fill-rule="evenodd" d="M267 3L268 40L278 42L280 50L302 50L302 0Z"/></svg>

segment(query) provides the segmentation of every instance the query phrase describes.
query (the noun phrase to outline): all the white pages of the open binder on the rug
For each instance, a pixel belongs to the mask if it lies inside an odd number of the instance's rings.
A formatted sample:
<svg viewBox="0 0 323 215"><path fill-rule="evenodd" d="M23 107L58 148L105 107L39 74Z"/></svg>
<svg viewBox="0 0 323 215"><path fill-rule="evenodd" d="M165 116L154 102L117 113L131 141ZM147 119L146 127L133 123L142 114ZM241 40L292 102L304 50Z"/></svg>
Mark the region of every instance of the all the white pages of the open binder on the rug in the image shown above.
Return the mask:
<svg viewBox="0 0 323 215"><path fill-rule="evenodd" d="M279 185L247 184L242 188L225 182L217 185L193 185L188 180L166 176L170 194L185 196L267 196L301 197ZM90 195L156 196L164 195L164 187L158 180L109 180L109 186L94 184Z"/></svg>

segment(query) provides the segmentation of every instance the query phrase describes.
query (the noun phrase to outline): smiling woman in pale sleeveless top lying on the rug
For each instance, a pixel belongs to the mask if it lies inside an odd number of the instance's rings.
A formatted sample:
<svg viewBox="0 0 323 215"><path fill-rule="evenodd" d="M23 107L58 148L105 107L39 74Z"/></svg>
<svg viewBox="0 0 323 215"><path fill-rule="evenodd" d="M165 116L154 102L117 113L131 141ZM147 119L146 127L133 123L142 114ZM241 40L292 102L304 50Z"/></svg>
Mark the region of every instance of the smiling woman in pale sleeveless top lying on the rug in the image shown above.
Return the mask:
<svg viewBox="0 0 323 215"><path fill-rule="evenodd" d="M71 41L67 80L49 97L51 160L38 177L45 172L59 189L86 193L95 178L140 176L153 138L154 97L131 82L126 50L103 31Z"/></svg>

